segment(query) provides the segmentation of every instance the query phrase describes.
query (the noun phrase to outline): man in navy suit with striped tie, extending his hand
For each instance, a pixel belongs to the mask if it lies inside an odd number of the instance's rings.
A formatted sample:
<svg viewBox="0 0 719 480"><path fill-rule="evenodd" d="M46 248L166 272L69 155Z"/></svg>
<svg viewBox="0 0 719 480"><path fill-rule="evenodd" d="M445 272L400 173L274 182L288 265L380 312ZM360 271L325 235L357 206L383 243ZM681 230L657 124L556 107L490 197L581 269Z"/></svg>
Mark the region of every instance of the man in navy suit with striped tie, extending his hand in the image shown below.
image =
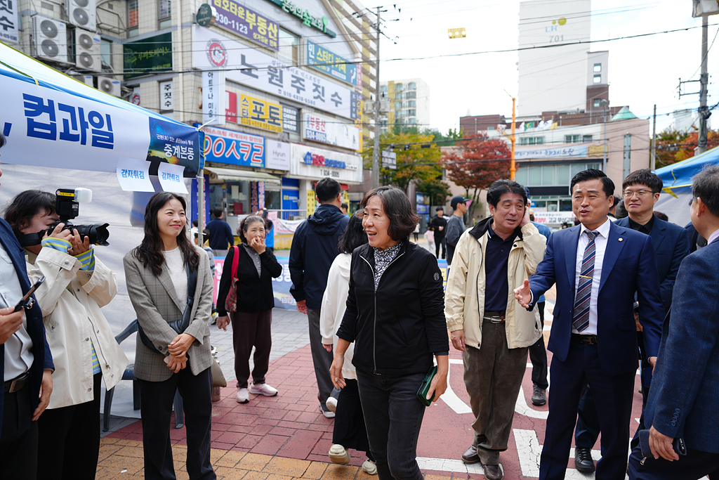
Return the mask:
<svg viewBox="0 0 719 480"><path fill-rule="evenodd" d="M518 302L533 308L557 284L557 303L549 336L551 391L539 478L564 479L582 388L597 398L602 428L602 459L597 480L623 478L637 368L639 318L649 361L659 350L663 309L651 239L607 217L614 184L589 169L572 178L572 209L581 225L554 232L537 272L515 290Z"/></svg>

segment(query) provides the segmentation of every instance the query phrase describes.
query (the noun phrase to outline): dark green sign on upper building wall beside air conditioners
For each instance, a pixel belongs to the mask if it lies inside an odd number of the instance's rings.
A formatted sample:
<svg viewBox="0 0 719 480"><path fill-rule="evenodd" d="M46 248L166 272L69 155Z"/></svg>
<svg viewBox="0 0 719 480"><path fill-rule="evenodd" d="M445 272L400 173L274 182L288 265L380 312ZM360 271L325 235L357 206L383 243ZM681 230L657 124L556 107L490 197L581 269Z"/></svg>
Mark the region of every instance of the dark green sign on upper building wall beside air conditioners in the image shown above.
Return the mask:
<svg viewBox="0 0 719 480"><path fill-rule="evenodd" d="M125 79L173 69L173 33L163 33L122 46Z"/></svg>

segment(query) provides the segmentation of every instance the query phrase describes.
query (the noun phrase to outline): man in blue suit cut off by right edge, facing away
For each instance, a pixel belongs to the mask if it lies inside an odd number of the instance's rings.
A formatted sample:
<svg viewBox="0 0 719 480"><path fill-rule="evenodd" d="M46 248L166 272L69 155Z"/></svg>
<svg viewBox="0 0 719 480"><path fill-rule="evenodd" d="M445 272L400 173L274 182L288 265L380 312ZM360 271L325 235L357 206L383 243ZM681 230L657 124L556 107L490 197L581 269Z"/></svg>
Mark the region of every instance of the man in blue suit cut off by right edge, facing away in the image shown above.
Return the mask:
<svg viewBox="0 0 719 480"><path fill-rule="evenodd" d="M630 479L719 479L719 166L694 177L690 216L707 246L679 268L644 412L651 455L632 450Z"/></svg>

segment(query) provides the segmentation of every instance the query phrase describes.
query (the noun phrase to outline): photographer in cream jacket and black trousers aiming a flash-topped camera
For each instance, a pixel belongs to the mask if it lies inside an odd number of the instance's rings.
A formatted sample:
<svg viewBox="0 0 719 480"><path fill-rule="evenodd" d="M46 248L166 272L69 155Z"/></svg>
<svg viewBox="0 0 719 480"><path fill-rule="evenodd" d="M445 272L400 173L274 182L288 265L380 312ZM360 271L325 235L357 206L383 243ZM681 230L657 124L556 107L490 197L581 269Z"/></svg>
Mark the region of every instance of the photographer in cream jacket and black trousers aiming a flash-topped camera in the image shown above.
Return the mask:
<svg viewBox="0 0 719 480"><path fill-rule="evenodd" d="M108 389L115 386L127 358L101 312L117 293L115 273L96 258L91 238L78 233L80 226L66 227L68 216L58 212L72 204L76 214L77 204L72 194L60 192L68 191L58 190L60 196L24 191L12 200L5 219L25 249L30 281L45 276L35 297L55 372L50 405L38 420L37 478L94 479L101 380Z"/></svg>

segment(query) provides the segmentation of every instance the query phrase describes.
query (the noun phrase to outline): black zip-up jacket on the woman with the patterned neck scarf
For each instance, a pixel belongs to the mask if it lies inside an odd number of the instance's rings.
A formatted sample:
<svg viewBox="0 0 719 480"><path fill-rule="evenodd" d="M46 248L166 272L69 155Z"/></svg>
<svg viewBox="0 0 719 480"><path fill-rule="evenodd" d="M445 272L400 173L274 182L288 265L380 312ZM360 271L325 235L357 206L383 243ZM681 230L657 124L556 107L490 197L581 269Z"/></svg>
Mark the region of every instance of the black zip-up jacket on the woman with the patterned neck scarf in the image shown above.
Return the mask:
<svg viewBox="0 0 719 480"><path fill-rule="evenodd" d="M426 373L433 353L449 351L442 275L436 258L408 240L375 292L374 249L352 253L347 310L337 336L354 342L357 370L385 375Z"/></svg>

